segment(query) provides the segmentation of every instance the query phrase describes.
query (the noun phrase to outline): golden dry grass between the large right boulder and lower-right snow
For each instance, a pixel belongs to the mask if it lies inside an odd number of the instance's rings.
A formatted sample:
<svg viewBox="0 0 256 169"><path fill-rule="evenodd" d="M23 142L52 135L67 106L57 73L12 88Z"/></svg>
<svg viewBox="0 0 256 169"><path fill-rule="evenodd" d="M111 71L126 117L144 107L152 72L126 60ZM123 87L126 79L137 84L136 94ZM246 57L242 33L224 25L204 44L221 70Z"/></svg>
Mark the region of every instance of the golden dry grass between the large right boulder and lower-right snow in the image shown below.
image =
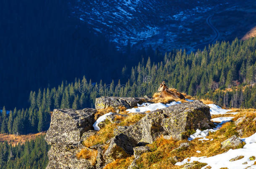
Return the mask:
<svg viewBox="0 0 256 169"><path fill-rule="evenodd" d="M172 164L168 158L172 156L180 157L180 161L183 159L191 157L191 156L214 156L217 154L224 153L228 149L221 149L221 142L228 139L233 135L237 135L236 127L234 123L228 122L222 126L221 129L214 133L210 133L207 136L208 139L214 139L213 141L199 141L198 139L194 139L190 141L190 146L187 149L183 149L180 151L172 151L176 147L178 147L182 142L188 142L187 140L165 140L163 137L160 137L153 144L149 144L148 146L151 148L152 152L145 153L138 160L138 165L141 168L180 168L180 166L175 166ZM242 148L241 144L235 149ZM196 153L199 150L201 153ZM200 164L201 165L201 164Z"/></svg>

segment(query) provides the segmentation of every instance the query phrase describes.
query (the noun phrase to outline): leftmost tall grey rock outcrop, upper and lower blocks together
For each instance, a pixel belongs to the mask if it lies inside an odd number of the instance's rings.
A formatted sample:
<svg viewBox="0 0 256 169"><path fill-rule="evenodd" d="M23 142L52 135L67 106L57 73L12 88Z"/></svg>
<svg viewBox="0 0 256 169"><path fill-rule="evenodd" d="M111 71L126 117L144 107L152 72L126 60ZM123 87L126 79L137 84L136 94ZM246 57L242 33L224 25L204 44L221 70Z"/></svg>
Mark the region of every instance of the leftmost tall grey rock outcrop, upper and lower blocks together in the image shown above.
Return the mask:
<svg viewBox="0 0 256 169"><path fill-rule="evenodd" d="M76 154L85 147L81 137L95 134L92 129L96 109L83 110L55 109L52 114L50 128L45 140L51 145L48 151L47 169L92 169L90 161L77 159ZM84 134L88 131L86 134ZM83 135L84 134L84 135Z"/></svg>

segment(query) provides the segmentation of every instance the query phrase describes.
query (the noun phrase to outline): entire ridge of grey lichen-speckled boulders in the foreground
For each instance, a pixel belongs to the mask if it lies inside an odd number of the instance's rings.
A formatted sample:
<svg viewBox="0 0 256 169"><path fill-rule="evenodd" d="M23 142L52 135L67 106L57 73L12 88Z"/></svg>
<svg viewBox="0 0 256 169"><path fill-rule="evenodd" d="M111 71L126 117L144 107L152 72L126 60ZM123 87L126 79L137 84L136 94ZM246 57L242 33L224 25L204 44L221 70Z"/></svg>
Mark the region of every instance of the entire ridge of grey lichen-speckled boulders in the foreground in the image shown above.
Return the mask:
<svg viewBox="0 0 256 169"><path fill-rule="evenodd" d="M120 106L131 108L137 103L148 102L151 98L96 98L96 108ZM47 169L101 169L120 156L133 155L138 157L150 151L146 144L151 144L159 136L165 138L184 139L185 132L192 129L210 129L213 125L210 121L210 109L200 101L181 103L178 105L152 111L141 120L131 126L118 126L114 130L115 136L105 145L94 145L90 149L97 149L96 164L92 165L87 159L78 159L78 154L86 147L82 144L88 136L96 134L92 131L94 115L97 109L85 108L83 110L55 109L52 114L50 129L47 131L45 140L51 145L48 152L49 164ZM193 125L192 125L193 124ZM86 148L87 149L87 148ZM129 168L136 166L136 160Z"/></svg>

